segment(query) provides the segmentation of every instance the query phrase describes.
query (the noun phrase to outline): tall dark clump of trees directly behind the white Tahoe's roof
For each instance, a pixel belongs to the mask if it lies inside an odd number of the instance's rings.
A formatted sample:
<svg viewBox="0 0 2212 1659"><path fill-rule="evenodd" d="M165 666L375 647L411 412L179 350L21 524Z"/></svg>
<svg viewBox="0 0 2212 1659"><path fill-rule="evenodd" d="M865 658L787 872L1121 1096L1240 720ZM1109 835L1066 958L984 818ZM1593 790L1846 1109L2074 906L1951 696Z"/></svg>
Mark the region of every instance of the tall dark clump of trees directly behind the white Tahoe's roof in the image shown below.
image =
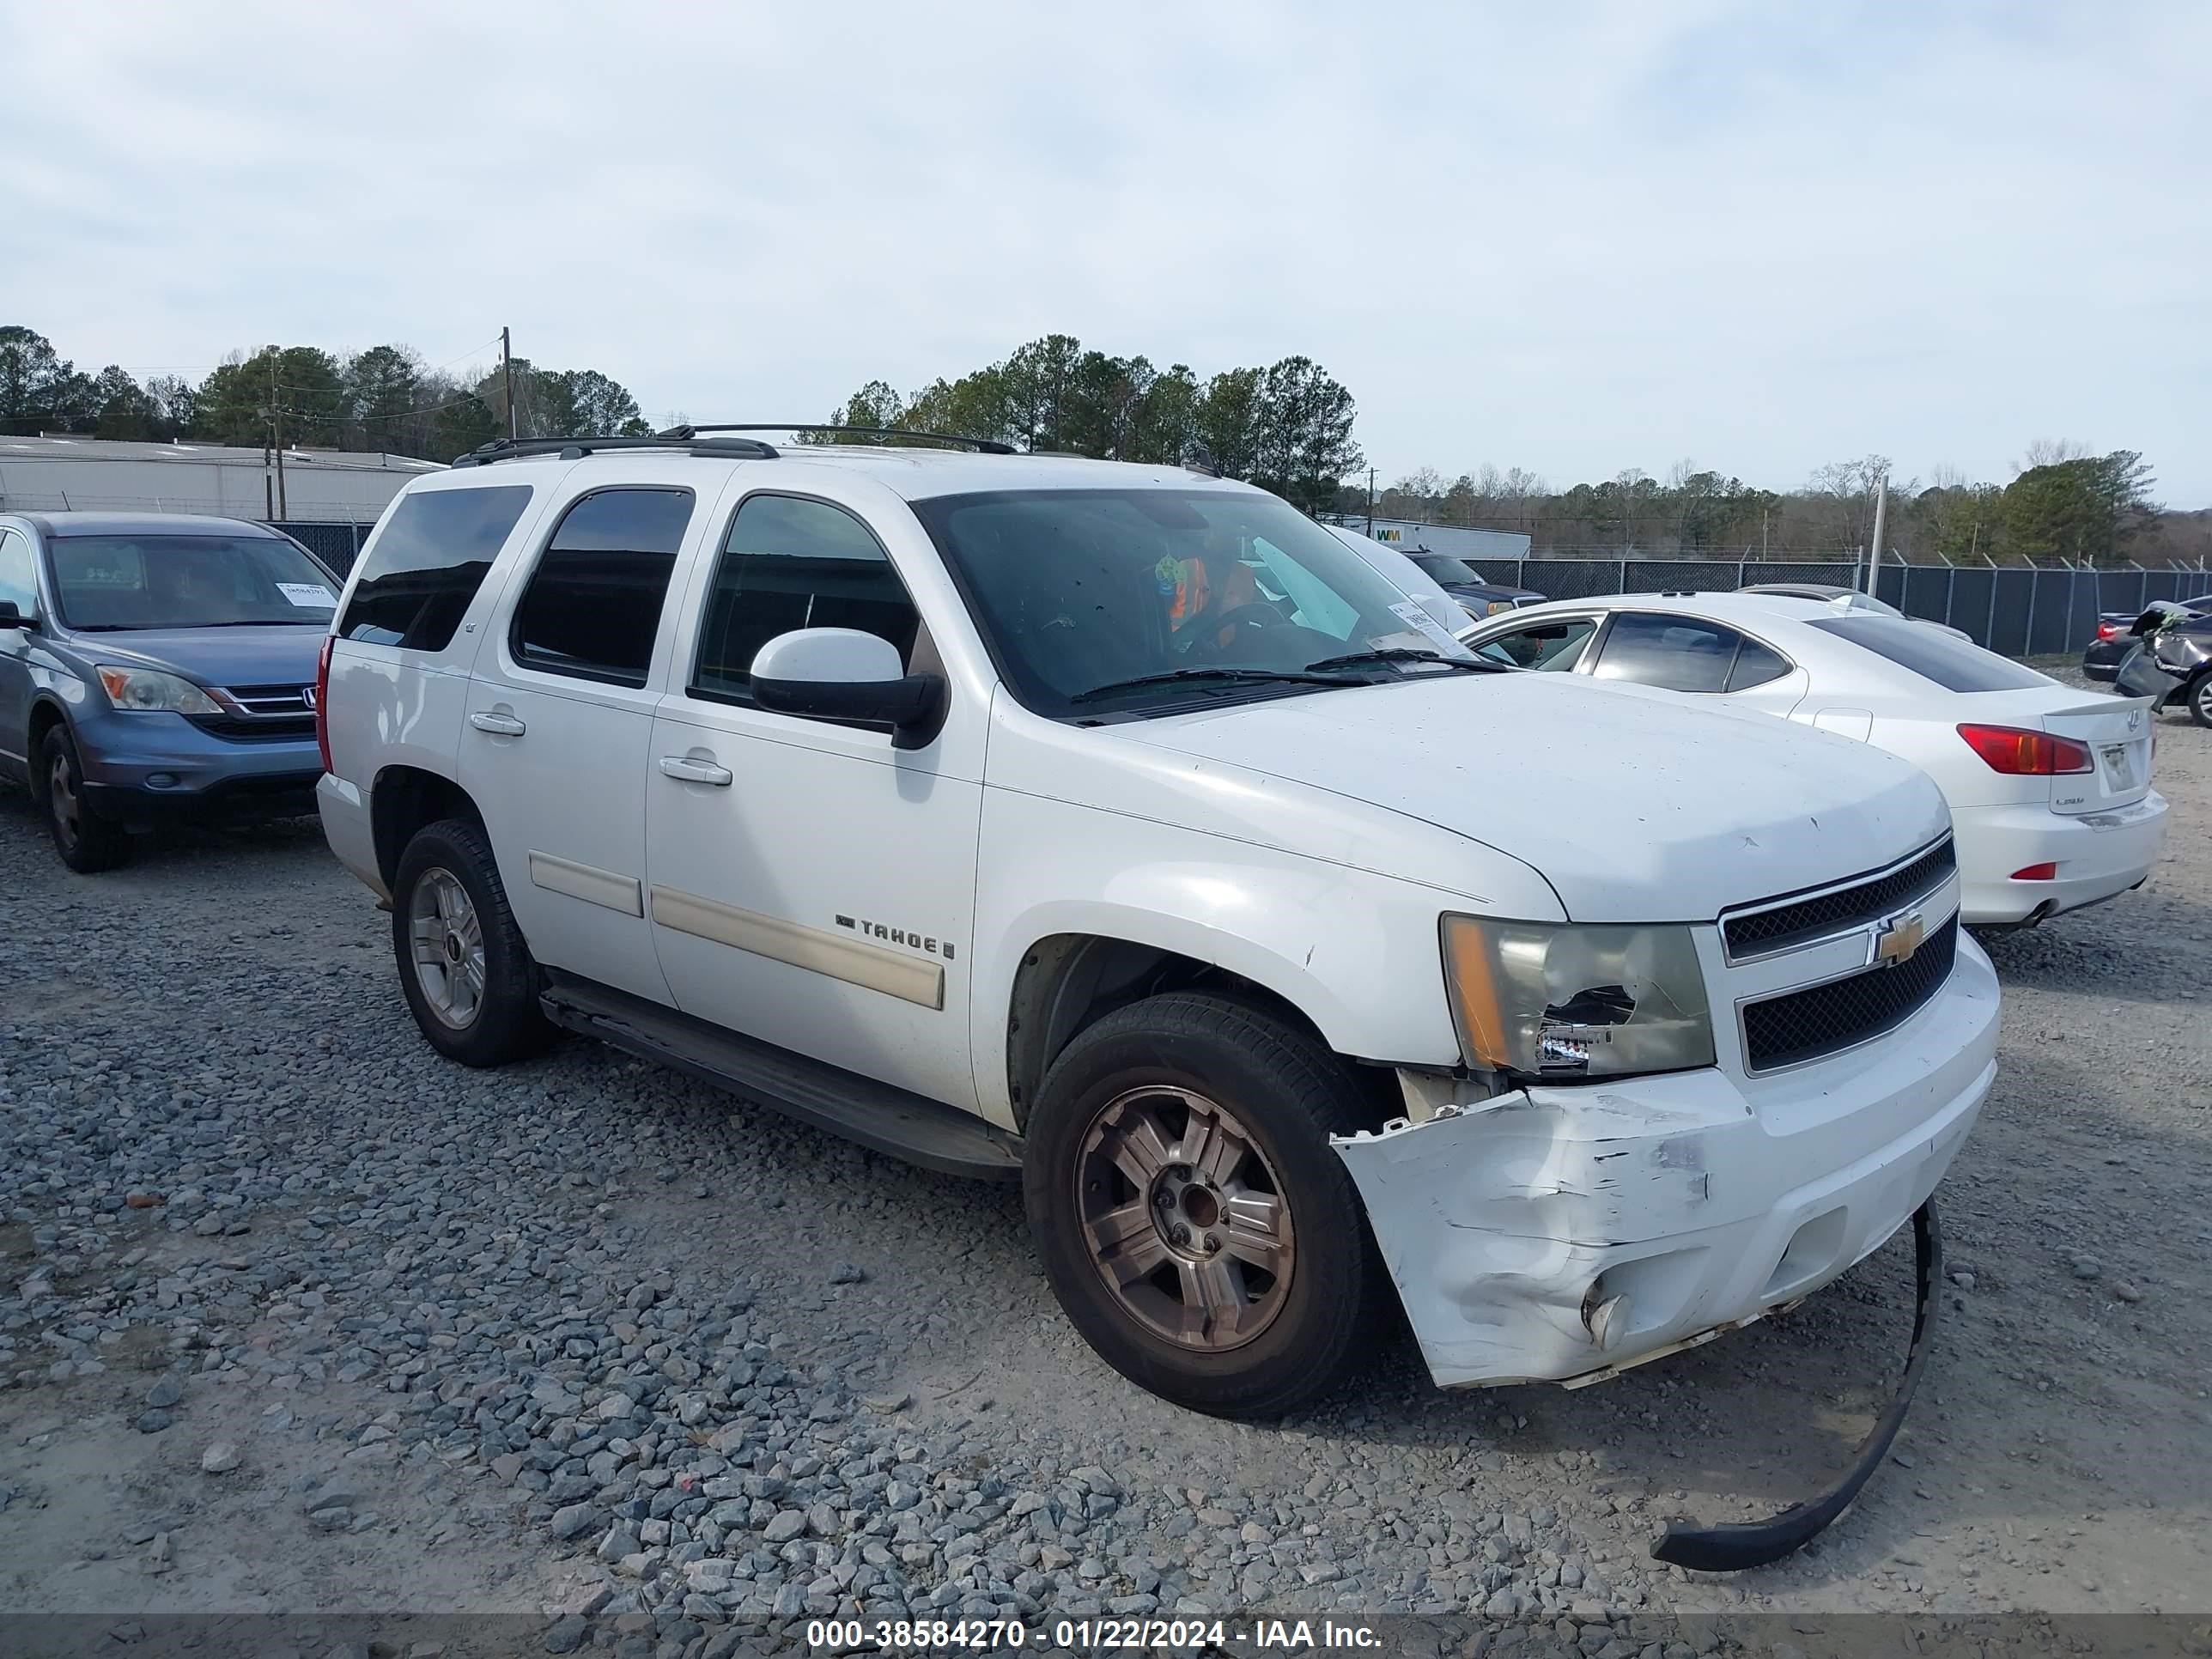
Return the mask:
<svg viewBox="0 0 2212 1659"><path fill-rule="evenodd" d="M1026 451L1197 462L1307 511L1334 507L1340 480L1367 462L1352 440L1352 394L1312 358L1221 369L1086 349L1046 334L998 363L905 396L869 380L830 414L843 427L905 427L991 438Z"/></svg>

